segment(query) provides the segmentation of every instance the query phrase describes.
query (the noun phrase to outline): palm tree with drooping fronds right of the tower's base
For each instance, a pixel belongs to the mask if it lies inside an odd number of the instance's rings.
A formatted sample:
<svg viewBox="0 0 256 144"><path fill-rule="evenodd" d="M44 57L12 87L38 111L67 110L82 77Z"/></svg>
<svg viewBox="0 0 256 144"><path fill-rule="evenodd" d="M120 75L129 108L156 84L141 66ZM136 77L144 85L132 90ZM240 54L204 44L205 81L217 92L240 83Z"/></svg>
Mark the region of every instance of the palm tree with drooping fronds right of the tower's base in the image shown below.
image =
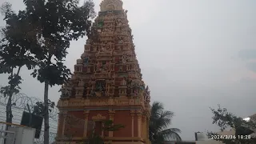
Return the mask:
<svg viewBox="0 0 256 144"><path fill-rule="evenodd" d="M150 116L150 141L152 144L162 144L164 141L170 140L182 140L178 134L181 133L181 130L177 128L168 129L173 116L173 112L164 110L161 102L153 103Z"/></svg>

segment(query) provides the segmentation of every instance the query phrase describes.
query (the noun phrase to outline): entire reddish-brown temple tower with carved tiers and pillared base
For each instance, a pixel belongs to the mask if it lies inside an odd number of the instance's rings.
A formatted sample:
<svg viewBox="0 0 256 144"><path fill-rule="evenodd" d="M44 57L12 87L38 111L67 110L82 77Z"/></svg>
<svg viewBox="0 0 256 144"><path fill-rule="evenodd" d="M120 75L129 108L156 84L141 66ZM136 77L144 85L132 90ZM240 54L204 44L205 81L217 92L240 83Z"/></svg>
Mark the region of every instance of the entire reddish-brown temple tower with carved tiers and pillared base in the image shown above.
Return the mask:
<svg viewBox="0 0 256 144"><path fill-rule="evenodd" d="M93 25L97 37L87 39L70 82L62 86L56 142L84 142L93 125L106 143L150 144L150 90L142 81L127 10L121 0L103 0L100 7ZM106 120L125 127L104 132Z"/></svg>

